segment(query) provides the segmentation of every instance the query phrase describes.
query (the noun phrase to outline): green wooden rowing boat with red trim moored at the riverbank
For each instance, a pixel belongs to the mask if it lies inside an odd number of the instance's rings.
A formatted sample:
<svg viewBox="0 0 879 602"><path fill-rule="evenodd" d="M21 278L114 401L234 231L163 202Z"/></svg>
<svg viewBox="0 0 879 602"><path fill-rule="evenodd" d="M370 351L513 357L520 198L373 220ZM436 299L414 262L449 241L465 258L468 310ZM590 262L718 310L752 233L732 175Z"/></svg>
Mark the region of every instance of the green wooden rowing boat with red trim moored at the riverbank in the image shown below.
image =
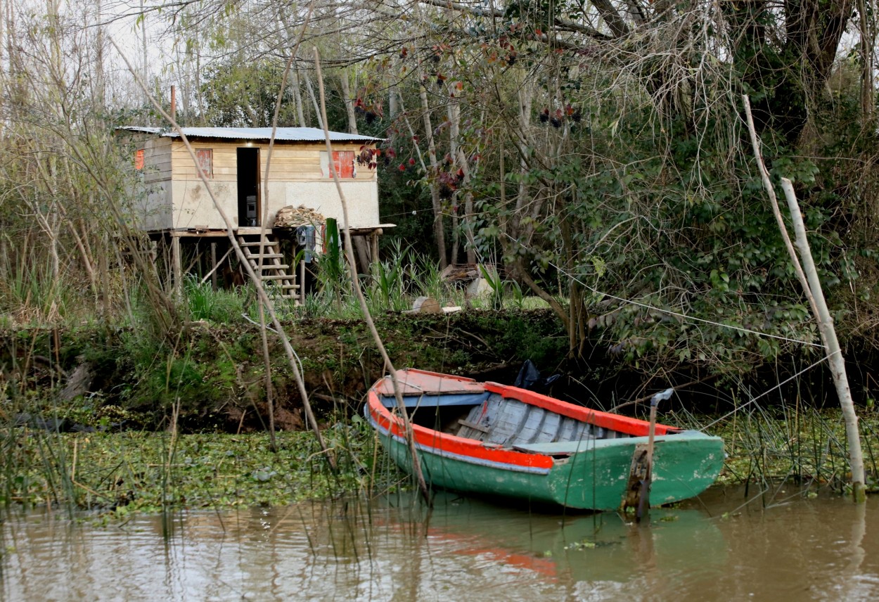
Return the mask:
<svg viewBox="0 0 879 602"><path fill-rule="evenodd" d="M422 370L397 371L425 480L432 487L570 508L615 510L649 423L495 382ZM411 471L390 377L369 389L367 419L403 470ZM723 466L723 441L655 427L650 502L699 495Z"/></svg>

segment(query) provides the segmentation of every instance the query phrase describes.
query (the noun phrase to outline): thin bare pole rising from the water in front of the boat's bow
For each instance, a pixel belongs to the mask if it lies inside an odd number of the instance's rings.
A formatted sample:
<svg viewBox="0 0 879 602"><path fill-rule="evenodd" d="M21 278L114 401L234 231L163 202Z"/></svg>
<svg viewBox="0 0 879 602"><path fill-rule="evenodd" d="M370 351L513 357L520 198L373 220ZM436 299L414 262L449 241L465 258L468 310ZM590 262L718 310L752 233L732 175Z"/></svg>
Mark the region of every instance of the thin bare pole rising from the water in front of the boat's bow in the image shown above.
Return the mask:
<svg viewBox="0 0 879 602"><path fill-rule="evenodd" d="M326 126L327 112L326 102L323 98L323 75L321 73L321 60L320 54L317 53L317 47L314 47L314 53L317 74L317 91L320 93L321 99L320 110L322 116L321 124L323 127L323 139L326 142L327 154L330 156L330 172L332 174L333 181L336 183L338 198L342 203L342 216L345 219L345 255L348 257L348 263L351 265L351 270L349 271L349 273L351 274L351 285L354 290L354 294L357 296L357 300L360 301L360 310L363 312L363 319L367 323L369 331L373 335L375 346L378 347L379 353L381 353L381 359L384 360L384 365L388 369L388 372L390 374L390 380L394 384L394 397L396 398L396 407L397 410L400 411L400 417L403 419L403 429L406 432L406 443L409 444L409 453L412 458L412 475L415 476L415 479L418 482L418 490L421 491L421 495L425 498L425 502L427 504L431 504L430 491L427 489L425 475L421 472L421 462L418 460L418 450L415 446L415 437L412 432L412 424L409 420L409 414L406 412L405 403L403 403L403 394L400 392L400 383L396 379L396 369L390 361L390 357L388 355L388 351L385 349L384 343L381 342L379 331L376 330L375 323L373 322L373 316L369 313L367 300L363 296L363 291L360 290L360 282L357 281L357 269L356 264L354 264L354 250L352 249L351 243L351 226L350 221L348 220L348 203L345 199L345 192L342 190L342 185L338 180L336 162L332 160L330 131L327 129Z"/></svg>

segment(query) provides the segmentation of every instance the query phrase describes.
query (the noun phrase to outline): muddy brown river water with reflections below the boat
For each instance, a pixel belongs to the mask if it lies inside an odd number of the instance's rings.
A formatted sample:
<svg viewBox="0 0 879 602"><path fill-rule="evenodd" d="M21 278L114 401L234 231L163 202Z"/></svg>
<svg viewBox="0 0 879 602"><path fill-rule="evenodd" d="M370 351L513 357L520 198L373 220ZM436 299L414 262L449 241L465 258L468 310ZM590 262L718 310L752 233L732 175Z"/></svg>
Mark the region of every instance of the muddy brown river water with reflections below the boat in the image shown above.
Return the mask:
<svg viewBox="0 0 879 602"><path fill-rule="evenodd" d="M440 493L97 526L0 526L3 600L857 600L879 597L879 498L714 488L650 525Z"/></svg>

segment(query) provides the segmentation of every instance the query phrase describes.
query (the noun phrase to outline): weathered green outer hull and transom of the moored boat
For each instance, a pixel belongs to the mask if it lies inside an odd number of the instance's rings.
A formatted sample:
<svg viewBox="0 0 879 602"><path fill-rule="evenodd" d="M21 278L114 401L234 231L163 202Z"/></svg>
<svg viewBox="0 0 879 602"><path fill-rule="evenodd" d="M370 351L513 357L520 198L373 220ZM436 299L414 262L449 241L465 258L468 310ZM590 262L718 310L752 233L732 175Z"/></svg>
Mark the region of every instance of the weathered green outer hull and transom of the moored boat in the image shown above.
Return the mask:
<svg viewBox="0 0 879 602"><path fill-rule="evenodd" d="M405 442L379 432L391 458L411 472ZM632 455L646 437L590 439L567 446L545 444L545 452L570 453L546 474L486 466L478 459L449 457L420 448L425 479L433 487L485 496L512 497L535 504L587 510L616 510L625 493ZM534 446L540 447L540 446ZM536 450L535 450L536 451ZM557 456L556 456L557 457ZM656 438L650 503L671 504L708 489L723 467L723 441L700 432Z"/></svg>

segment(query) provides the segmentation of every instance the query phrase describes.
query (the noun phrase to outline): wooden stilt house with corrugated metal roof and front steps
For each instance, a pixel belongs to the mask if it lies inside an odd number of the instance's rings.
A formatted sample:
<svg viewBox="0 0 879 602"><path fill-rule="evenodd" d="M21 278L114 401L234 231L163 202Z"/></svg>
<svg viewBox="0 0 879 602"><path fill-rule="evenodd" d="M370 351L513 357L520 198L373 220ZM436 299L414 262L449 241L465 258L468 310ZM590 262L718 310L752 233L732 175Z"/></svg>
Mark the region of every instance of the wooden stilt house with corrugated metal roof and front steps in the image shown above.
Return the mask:
<svg viewBox="0 0 879 602"><path fill-rule="evenodd" d="M263 279L276 284L276 290L284 296L296 295L301 287L295 281L295 270L283 261L279 246L280 238L292 238L294 233L286 226L276 228L275 215L283 207L301 207L309 214L335 219L343 228L345 219L331 162L335 163L345 193L352 234L367 238L372 247L370 255L376 257L381 228L392 226L379 223L375 145L380 139L331 132L330 155L323 130L279 127L269 160L270 127L184 127L183 133L195 152L193 162L176 131L159 127L122 129L134 136L134 168L142 173L143 190L133 207L133 219L163 248L170 248L171 269L178 282L183 272L181 244L198 246L209 239L214 282L218 245L220 252L228 249L222 243L222 238L228 236L226 223L199 170L232 222L245 255L251 257L251 265L260 268ZM312 225L320 247L323 224ZM261 243L258 235L263 227L268 236Z"/></svg>

